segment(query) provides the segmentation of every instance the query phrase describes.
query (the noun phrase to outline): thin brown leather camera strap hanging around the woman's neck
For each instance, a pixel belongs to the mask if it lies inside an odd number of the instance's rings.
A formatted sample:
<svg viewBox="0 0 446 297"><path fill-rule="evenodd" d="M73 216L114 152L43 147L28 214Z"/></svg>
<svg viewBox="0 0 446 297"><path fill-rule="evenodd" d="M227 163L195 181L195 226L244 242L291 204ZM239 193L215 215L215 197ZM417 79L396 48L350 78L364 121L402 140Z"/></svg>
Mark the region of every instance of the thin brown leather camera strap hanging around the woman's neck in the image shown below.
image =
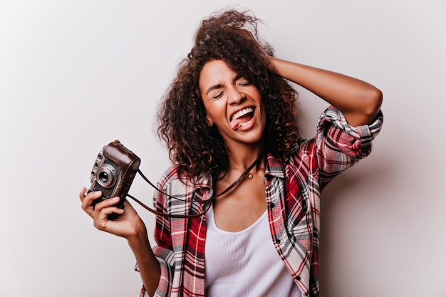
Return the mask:
<svg viewBox="0 0 446 297"><path fill-rule="evenodd" d="M149 212L152 212L152 214L157 214L161 217L170 217L170 218L195 218L195 217L201 217L203 214L206 214L207 211L210 209L212 203L212 201L214 201L215 199L217 199L217 197L220 197L224 194L226 194L227 192L229 192L230 190L232 190L234 187L237 186L237 184L239 184L239 182L242 182L242 180L247 177L247 175L249 174L249 172L256 167L256 165L259 164L261 158L264 156L264 153L261 153L259 155L259 157L257 157L257 159L247 168L247 170L245 170L242 175L239 176L239 178L237 178L234 182L232 182L232 184L229 185L229 187L227 187L226 189L224 189L221 193L219 194L215 194L215 192L213 192L212 197L209 198L209 200L207 200L206 202L208 202L207 207L204 209L204 212L199 213L199 214L165 214L164 212L158 212L155 209L151 209L150 207L147 207L147 205L145 205L144 203L140 202L140 200L136 199L135 197L133 197L130 194L127 194L127 197L129 197L130 199L133 199L136 203L140 204L140 206L144 209L147 209ZM158 189L158 187L155 186L155 184L153 184L152 182L150 182L149 179L147 179L147 177L145 177L144 174L142 174L141 170L138 169L138 173L140 174L140 176L142 177L142 179L144 179L148 184L150 184L150 186L152 186L154 189L156 189L158 192L160 192L161 194L170 197L172 199L177 199L177 200L181 200L181 201L185 201L183 199L179 199L177 197L174 197L170 194L167 194L165 192L163 192L162 190ZM201 201L197 201L197 202L201 202Z"/></svg>

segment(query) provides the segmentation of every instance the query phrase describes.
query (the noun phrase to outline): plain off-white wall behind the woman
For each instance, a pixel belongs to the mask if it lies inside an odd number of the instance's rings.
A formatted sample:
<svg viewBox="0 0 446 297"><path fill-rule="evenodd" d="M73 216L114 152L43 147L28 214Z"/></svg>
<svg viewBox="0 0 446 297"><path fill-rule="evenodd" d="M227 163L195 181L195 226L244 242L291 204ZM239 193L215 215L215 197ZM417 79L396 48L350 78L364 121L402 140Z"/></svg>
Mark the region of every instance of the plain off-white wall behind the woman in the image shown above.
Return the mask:
<svg viewBox="0 0 446 297"><path fill-rule="evenodd" d="M128 244L93 228L78 192L116 138L157 181L157 103L199 21L235 3L0 0L0 296L138 296ZM446 296L445 1L237 4L279 58L384 93L372 155L323 192L322 296ZM299 91L311 137L326 103ZM130 193L151 205L138 177Z"/></svg>

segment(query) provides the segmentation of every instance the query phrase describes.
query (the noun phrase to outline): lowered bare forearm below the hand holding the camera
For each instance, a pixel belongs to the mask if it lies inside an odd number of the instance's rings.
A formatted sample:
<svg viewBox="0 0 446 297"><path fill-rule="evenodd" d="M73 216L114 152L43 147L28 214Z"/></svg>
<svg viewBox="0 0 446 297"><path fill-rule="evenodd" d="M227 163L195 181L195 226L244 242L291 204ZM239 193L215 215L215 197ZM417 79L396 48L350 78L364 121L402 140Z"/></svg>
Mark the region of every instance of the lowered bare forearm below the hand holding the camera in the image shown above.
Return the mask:
<svg viewBox="0 0 446 297"><path fill-rule="evenodd" d="M160 263L150 246L145 226L138 228L137 234L128 239L128 244L135 255L136 263L138 263L145 290L150 296L153 296L160 282L161 270Z"/></svg>

